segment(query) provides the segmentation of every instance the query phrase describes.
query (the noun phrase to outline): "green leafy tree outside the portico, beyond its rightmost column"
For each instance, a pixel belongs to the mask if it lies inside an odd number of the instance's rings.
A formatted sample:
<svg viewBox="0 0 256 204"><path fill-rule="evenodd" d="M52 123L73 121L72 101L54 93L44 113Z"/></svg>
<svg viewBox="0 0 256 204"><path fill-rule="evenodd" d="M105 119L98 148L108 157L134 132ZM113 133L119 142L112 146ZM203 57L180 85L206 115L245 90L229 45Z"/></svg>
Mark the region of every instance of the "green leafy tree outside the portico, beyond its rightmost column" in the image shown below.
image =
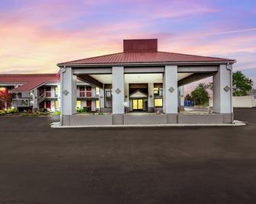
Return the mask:
<svg viewBox="0 0 256 204"><path fill-rule="evenodd" d="M233 96L247 96L252 89L253 81L240 71L233 73Z"/></svg>

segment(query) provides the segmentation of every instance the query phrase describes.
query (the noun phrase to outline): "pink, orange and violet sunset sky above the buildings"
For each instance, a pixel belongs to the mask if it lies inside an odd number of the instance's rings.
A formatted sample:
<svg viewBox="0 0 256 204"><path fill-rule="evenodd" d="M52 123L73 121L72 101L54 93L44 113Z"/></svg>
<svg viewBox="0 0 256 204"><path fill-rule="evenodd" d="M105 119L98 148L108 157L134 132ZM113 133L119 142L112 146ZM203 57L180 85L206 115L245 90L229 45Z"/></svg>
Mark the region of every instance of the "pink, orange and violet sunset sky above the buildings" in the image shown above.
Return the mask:
<svg viewBox="0 0 256 204"><path fill-rule="evenodd" d="M1 0L0 73L57 72L57 62L122 52L158 38L159 50L237 59L256 79L256 1Z"/></svg>

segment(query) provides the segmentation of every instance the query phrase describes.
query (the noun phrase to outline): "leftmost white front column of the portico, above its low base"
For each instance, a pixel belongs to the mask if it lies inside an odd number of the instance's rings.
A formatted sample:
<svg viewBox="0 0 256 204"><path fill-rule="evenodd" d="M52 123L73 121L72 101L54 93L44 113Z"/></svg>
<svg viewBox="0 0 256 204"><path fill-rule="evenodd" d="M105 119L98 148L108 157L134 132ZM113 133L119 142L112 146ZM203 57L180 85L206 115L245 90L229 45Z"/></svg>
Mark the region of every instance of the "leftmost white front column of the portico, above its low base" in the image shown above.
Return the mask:
<svg viewBox="0 0 256 204"><path fill-rule="evenodd" d="M72 68L63 69L61 74L62 115L70 116L76 113L76 75Z"/></svg>

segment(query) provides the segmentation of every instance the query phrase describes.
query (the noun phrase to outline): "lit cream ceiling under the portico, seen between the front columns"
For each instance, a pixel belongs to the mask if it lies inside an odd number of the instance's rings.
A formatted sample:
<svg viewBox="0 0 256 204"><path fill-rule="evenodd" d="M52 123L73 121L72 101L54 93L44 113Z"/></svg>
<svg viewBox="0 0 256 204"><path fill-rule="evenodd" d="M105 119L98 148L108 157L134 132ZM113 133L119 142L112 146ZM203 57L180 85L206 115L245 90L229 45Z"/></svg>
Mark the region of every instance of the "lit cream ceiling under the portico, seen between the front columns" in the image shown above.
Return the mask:
<svg viewBox="0 0 256 204"><path fill-rule="evenodd" d="M178 73L178 81L193 73ZM90 75L102 84L112 84L112 75ZM125 83L163 83L163 74L125 74Z"/></svg>

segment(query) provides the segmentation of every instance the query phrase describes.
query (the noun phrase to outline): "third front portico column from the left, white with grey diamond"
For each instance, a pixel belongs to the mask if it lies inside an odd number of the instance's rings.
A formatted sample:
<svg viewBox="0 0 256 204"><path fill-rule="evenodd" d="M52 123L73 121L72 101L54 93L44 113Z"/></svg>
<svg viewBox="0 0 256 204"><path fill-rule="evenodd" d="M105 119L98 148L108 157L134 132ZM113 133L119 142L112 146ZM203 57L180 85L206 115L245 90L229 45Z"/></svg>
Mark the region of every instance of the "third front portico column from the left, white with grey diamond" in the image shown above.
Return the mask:
<svg viewBox="0 0 256 204"><path fill-rule="evenodd" d="M167 123L177 123L178 86L177 65L167 65L164 70L164 101L163 110L167 113Z"/></svg>

